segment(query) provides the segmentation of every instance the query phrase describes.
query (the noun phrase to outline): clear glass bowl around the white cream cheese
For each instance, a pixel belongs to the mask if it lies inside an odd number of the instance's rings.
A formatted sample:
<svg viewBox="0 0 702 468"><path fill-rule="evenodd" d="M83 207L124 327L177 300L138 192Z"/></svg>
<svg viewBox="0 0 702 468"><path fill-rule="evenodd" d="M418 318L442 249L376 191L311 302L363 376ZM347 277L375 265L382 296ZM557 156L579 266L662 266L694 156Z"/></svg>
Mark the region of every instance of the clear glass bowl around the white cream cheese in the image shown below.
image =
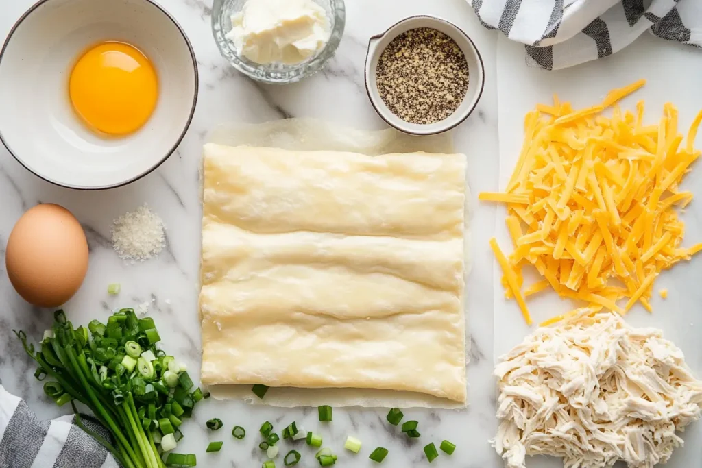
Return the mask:
<svg viewBox="0 0 702 468"><path fill-rule="evenodd" d="M214 0L212 6L212 34L224 58L229 60L232 67L249 76L249 78L271 84L295 83L319 72L326 61L336 53L346 22L344 0L314 0L314 3L322 6L324 11L326 11L326 17L329 19L329 27L331 28L331 36L321 51L296 65L278 63L261 65L239 55L234 43L227 39L226 36L232 30L232 15L239 13L241 8L244 8L245 3L246 0Z"/></svg>

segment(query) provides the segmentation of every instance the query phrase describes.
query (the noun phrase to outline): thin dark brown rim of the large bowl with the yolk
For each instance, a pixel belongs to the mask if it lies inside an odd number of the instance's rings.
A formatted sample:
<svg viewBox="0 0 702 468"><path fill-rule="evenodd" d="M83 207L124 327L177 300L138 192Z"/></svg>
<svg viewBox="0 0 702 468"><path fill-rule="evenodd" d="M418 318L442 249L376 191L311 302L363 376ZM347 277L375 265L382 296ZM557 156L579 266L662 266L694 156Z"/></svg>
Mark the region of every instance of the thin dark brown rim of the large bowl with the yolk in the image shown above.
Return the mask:
<svg viewBox="0 0 702 468"><path fill-rule="evenodd" d="M10 44L10 40L12 39L12 37L15 34L15 31L18 29L18 27L20 27L22 22L24 22L29 17L29 15L34 13L34 11L36 11L37 8L48 3L49 1L51 1L51 0L38 0L34 5L30 6L29 9L27 9L27 11L25 11L25 13L22 13L20 18L18 18L18 20L15 22L15 24L11 27L10 32L8 33L8 35L6 37L2 48L0 48L0 65L1 65L2 59L5 55L5 51L8 47L8 45ZM166 15L166 18L168 18L169 20L171 20L171 22L173 22L173 25L176 26L176 28L178 29L178 32L180 32L180 35L183 36L183 40L185 41L185 45L187 46L188 51L190 52L190 58L192 59L192 65L193 65L193 70L194 70L194 79L195 79L194 85L195 86L194 86L194 94L193 94L193 98L192 98L192 106L190 107L190 114L187 117L187 121L185 122L185 127L183 128L183 131L180 133L180 135L178 135L178 138L176 139L176 142L173 143L173 146L171 147L171 149L168 149L166 154L159 161L154 163L153 166L148 168L146 171L143 171L142 173L135 175L134 177L132 177L128 180L124 180L122 182L117 182L117 183L110 184L110 185L101 185L99 187L86 187L86 186L81 186L81 185L66 184L64 182L59 182L58 180L52 180L51 178L48 178L47 176L40 175L37 172L33 171L32 168L29 168L22 161L22 159L17 154L15 154L15 152L13 152L13 150L11 149L8 142L5 141L5 138L3 137L3 133L2 133L2 128L0 128L0 142L2 143L2 145L7 149L7 151L11 154L11 156L15 159L15 161L20 163L20 165L23 168L27 169L27 171L36 175L41 180L46 180L46 182L49 182L53 185L57 185L58 187L65 187L67 189L84 190L84 191L107 190L107 189L115 189L117 187L124 187L125 185L131 184L131 182L135 182L135 180L139 180L139 179L145 177L146 175L149 175L150 173L155 171L157 168L159 168L159 166L161 166L161 164L166 162L166 159L168 159L171 156L171 154L176 152L176 149L178 149L178 146L180 146L180 142L182 142L183 138L185 138L185 134L187 133L188 129L190 128L190 123L192 123L192 119L193 119L193 116L195 114L195 107L197 107L197 96L199 94L199 72L197 69L197 58L195 56L195 51L192 48L192 44L190 44L190 39L188 39L187 34L185 34L185 30L183 29L182 26L180 26L180 23L178 23L176 18L173 18L173 15L171 15L171 13L168 13L168 11L166 11L166 9L163 6L159 5L154 0L142 0L142 1L145 1L148 4L151 4L152 6L156 7L159 11L161 11L161 13L164 13L164 15Z"/></svg>

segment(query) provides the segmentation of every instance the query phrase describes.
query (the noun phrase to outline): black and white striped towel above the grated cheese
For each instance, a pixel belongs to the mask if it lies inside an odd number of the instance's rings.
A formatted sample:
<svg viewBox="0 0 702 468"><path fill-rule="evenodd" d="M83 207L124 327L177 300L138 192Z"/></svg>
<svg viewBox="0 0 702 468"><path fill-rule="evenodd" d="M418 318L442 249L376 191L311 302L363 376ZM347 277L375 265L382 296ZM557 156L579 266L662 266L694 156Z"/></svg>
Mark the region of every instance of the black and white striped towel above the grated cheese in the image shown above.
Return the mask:
<svg viewBox="0 0 702 468"><path fill-rule="evenodd" d="M606 57L643 32L702 46L702 0L468 0L489 29L527 44L527 65L559 69Z"/></svg>

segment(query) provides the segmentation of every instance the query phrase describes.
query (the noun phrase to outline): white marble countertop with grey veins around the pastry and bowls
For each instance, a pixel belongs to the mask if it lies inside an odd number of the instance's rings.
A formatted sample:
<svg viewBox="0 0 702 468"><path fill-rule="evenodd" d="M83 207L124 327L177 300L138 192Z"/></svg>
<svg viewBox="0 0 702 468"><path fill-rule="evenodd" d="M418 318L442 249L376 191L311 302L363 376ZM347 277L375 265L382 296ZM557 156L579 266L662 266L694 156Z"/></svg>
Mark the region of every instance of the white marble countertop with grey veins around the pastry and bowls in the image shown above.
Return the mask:
<svg viewBox="0 0 702 468"><path fill-rule="evenodd" d="M468 155L468 181L472 191L473 245L486 246L495 225L494 208L477 206L475 194L494 189L498 177L498 135L496 115L496 43L494 32L486 31L464 0L347 0L347 22L336 57L324 72L291 86L261 86L244 78L220 56L210 32L212 0L161 0L183 25L197 54L200 92L197 112L180 148L157 171L127 187L106 192L76 192L48 184L22 168L4 148L0 149L0 379L8 391L22 396L41 417L65 412L48 401L34 366L25 356L11 330L41 337L53 315L30 307L16 295L4 272L4 246L16 220L39 202L60 203L84 225L90 246L90 267L84 285L65 305L69 319L87 323L95 316L107 317L117 307L150 302L168 352L180 355L199 373L200 332L197 321L197 276L199 265L198 166L201 144L208 129L223 121L258 123L290 116L331 119L358 128L384 128L369 105L363 84L363 64L369 36L382 32L409 15L428 13L448 18L463 27L475 41L485 63L486 86L476 112L454 132L458 151ZM16 18L33 0L0 2L0 39L4 39ZM0 109L0 112L8 112ZM168 228L168 247L157 260L124 265L112 251L112 220L127 210L148 203ZM485 227L484 229L478 229ZM468 365L470 406L466 410L407 410L420 422L422 437L408 442L385 422L386 410L337 408L332 424L322 429L325 443L342 455L339 467L371 467L370 450L390 450L383 466L407 468L425 466L422 447L429 441L450 439L458 448L453 457L440 456L440 467L501 467L499 457L487 440L494 435L493 364L493 260L489 249L473 252L473 271L468 281L468 333L471 360ZM119 282L122 291L108 297L107 283ZM244 441L235 441L228 431L225 449L205 454L207 434L204 422L220 417L226 427L239 424L248 431ZM187 438L179 451L197 453L203 467L258 467L264 460L256 436L261 422L280 426L296 420L307 429L319 429L316 412L310 408L281 409L251 407L244 403L207 401L186 423ZM347 434L364 441L364 450L354 456L343 450ZM286 448L283 448L283 454ZM287 449L289 450L289 449ZM305 461L316 462L303 447ZM278 459L279 463L280 460Z"/></svg>

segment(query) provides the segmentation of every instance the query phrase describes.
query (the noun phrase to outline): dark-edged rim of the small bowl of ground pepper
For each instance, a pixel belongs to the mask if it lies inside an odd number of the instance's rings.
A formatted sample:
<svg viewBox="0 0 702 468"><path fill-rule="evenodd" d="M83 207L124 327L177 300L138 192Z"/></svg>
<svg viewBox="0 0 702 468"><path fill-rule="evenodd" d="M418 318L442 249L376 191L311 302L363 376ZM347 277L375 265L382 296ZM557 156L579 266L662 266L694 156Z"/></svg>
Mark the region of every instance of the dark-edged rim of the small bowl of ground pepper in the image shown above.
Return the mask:
<svg viewBox="0 0 702 468"><path fill-rule="evenodd" d="M461 118L458 119L456 122L452 123L451 125L437 126L436 130L434 130L434 131L411 131L409 128L404 127L402 125L402 123L399 123L397 121L391 121L389 119L385 119L385 116L383 116L383 114L378 109L378 104L376 103L376 100L373 98L373 95L371 93L371 85L369 83L369 69L370 69L370 65L371 65L371 60L373 60L374 58L380 58L380 54L383 53L383 51L378 51L376 49L376 51L373 52L373 56L371 57L371 44L373 44L373 40L383 39L383 37L387 36L388 33L390 33L390 31L392 31L392 29L394 29L395 27L401 25L402 23L404 23L406 21L415 20L418 18L419 19L427 19L427 20L436 21L436 22L444 22L444 23L448 24L449 26L453 27L453 29L455 29L458 32L458 34L462 34L463 36L465 36L465 39L468 39L468 42L470 43L470 45L473 48L473 51L475 51L475 55L476 55L478 62L480 64L480 72L481 72L480 74L482 77L482 79L480 81L480 88L477 92L477 96L475 98L475 103L472 105L472 107L466 109L464 111L464 114L461 116ZM368 95L368 100L371 102L371 106L373 106L373 109L376 111L376 114L378 114L380 119L383 119L383 121L385 121L385 123L387 123L389 126L391 126L392 128L395 128L395 130L397 130L397 131L401 131L402 133L406 133L407 135L416 135L416 136L438 135L439 133L444 133L446 131L452 130L453 128L456 128L457 126L461 125L461 123L463 123L465 121L465 119L468 119L470 114L472 114L473 111L475 110L475 108L477 107L478 102L480 102L480 98L482 97L482 93L485 89L485 64L482 60L482 55L480 55L480 51L478 50L477 46L475 45L475 42L473 42L473 40L470 38L470 36L468 36L468 33L466 33L463 30L463 28L456 25L456 23L449 21L449 20L446 20L446 18L441 18L441 17L435 16L435 15L411 15L411 16L407 16L406 18L402 18L402 20L395 22L390 27L385 29L385 31L381 32L380 34L373 34L373 36L371 36L369 38L368 48L366 51L366 63L364 64L364 82L366 85L366 94ZM402 119L397 117L397 120L402 120Z"/></svg>

